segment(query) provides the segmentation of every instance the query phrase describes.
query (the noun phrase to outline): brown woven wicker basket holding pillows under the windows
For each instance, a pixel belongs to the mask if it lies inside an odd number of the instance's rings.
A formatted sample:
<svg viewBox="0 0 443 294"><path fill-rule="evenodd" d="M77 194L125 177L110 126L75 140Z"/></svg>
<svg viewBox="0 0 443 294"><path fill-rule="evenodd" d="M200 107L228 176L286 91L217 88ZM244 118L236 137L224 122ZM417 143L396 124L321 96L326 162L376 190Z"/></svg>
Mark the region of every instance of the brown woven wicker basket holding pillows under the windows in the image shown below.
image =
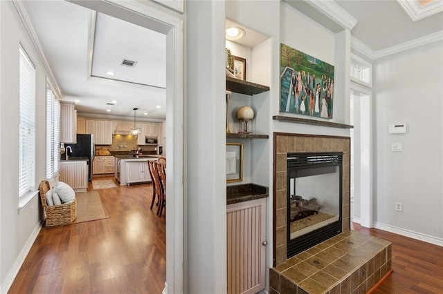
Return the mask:
<svg viewBox="0 0 443 294"><path fill-rule="evenodd" d="M77 199L68 204L51 205L46 204L46 192L50 190L48 181L42 181L39 185L40 199L46 213L46 226L62 226L71 224L77 217Z"/></svg>

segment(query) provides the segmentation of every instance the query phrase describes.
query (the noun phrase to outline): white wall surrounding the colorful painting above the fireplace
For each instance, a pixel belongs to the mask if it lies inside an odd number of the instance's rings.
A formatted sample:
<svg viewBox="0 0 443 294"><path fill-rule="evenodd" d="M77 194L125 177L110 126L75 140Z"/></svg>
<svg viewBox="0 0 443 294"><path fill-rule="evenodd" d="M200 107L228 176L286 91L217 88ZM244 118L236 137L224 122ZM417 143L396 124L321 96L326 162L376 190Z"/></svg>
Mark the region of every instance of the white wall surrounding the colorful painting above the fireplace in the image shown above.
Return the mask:
<svg viewBox="0 0 443 294"><path fill-rule="evenodd" d="M295 8L282 2L280 6L280 43L284 43L296 50L314 56L321 61L325 61L334 66L336 79L334 81L334 116L333 119L327 121L338 122L341 124L349 124L349 97L345 95L345 87L347 83L343 73L345 73L346 55L348 54L346 45L350 42L348 32L341 32L337 35L327 28L320 26L305 14L302 14ZM348 46L349 47L349 46ZM343 52L336 52L341 50ZM278 48L278 56L280 56L280 48ZM280 60L280 59L278 59ZM348 62L348 61L347 61ZM338 79L338 75L340 75ZM280 83L280 79L278 80ZM276 85L277 88L280 84ZM280 114L279 93L272 99L273 115L285 115L291 117L300 117L309 119L306 115L294 115L282 112ZM347 108L346 108L347 105ZM315 119L315 118L314 118ZM323 119L322 119L323 120ZM287 122L273 121L273 131L284 133L302 133L314 135L337 135L348 136L349 130L343 128L325 128L324 126L291 124Z"/></svg>

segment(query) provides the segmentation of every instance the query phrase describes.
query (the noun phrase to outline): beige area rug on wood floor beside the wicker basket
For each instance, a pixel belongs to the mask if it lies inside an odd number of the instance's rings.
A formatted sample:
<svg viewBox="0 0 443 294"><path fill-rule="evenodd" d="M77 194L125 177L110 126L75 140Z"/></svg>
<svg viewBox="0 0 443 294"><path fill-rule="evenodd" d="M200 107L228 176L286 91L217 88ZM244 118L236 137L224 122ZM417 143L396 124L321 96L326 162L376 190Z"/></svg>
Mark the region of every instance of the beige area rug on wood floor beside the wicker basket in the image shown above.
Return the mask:
<svg viewBox="0 0 443 294"><path fill-rule="evenodd" d="M98 191L75 193L75 198L77 198L77 217L73 224L109 218Z"/></svg>

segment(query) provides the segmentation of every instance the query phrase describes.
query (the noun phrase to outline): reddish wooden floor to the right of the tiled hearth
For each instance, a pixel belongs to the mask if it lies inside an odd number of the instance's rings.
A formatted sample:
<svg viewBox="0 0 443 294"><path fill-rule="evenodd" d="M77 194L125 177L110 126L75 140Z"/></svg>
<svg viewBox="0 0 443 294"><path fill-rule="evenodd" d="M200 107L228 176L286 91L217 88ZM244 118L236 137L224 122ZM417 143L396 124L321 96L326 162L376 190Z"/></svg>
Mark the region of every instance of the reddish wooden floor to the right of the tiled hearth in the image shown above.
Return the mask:
<svg viewBox="0 0 443 294"><path fill-rule="evenodd" d="M392 273L374 294L443 293L443 247L353 224L354 231L392 242Z"/></svg>

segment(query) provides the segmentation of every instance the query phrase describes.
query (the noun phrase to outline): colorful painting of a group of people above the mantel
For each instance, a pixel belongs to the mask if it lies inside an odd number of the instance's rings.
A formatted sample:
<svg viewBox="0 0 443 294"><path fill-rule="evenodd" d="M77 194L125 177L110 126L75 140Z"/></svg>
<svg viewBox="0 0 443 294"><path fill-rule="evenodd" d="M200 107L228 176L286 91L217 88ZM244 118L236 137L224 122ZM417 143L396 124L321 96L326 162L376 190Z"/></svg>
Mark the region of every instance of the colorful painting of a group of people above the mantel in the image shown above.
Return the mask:
<svg viewBox="0 0 443 294"><path fill-rule="evenodd" d="M334 66L280 44L280 111L332 119Z"/></svg>

